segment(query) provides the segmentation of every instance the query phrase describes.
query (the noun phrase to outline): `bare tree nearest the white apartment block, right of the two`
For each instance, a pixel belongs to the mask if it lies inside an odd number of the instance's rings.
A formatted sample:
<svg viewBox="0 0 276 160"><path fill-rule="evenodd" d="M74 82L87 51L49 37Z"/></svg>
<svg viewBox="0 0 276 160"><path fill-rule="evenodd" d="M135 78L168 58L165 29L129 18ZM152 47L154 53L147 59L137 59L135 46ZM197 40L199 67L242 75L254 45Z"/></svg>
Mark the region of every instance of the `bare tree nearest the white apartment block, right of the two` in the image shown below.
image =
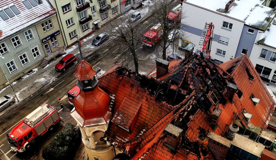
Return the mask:
<svg viewBox="0 0 276 160"><path fill-rule="evenodd" d="M187 39L185 34L184 26L180 25L182 19L185 18L185 13L182 13L179 16L178 22L173 23L172 20L168 17L169 12L176 6L172 5L172 0L156 0L155 4L152 6L154 12L153 18L156 23L159 23L163 28L163 35L161 36L162 41L159 41L159 45L162 47L162 58L166 59L167 49L171 45L175 45L174 41L179 39ZM180 10L181 11L181 10ZM176 46L178 46L176 44Z"/></svg>

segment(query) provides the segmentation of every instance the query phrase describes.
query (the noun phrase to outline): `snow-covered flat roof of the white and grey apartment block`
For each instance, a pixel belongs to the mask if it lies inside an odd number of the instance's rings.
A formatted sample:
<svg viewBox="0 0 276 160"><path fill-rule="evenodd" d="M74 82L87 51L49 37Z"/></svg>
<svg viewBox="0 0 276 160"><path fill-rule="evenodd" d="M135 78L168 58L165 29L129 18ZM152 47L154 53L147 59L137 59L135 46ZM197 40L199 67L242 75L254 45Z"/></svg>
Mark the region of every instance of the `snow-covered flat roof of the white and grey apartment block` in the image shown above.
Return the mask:
<svg viewBox="0 0 276 160"><path fill-rule="evenodd" d="M187 2L227 16L243 20L245 24L265 30L275 13L272 8L263 6L264 0L240 0L227 11L229 0L187 0Z"/></svg>

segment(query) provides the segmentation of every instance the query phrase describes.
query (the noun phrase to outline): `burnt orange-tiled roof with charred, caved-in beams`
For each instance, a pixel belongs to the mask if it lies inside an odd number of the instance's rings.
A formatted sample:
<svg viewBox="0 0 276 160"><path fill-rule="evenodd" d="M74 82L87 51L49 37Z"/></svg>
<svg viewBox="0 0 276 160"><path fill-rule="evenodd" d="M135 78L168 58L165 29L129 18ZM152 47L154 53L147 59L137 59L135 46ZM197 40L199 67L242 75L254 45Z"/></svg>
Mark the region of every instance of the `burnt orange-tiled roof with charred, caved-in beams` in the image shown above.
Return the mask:
<svg viewBox="0 0 276 160"><path fill-rule="evenodd" d="M210 132L226 137L235 121L264 129L275 109L247 55L221 66L200 57L170 61L156 79L158 67L147 77L116 65L99 78L99 86L116 95L107 140L133 159L211 159ZM251 94L260 99L257 105ZM169 124L181 133L165 130Z"/></svg>

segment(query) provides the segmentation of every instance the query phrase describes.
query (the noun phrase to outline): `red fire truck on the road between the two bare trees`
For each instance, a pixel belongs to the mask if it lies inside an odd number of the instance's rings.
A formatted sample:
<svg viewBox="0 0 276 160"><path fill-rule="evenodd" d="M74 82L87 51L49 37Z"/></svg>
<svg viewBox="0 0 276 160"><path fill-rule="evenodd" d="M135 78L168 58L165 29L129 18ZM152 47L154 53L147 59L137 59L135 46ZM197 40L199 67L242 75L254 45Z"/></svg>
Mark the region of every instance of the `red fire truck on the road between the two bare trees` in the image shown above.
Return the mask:
<svg viewBox="0 0 276 160"><path fill-rule="evenodd" d="M142 39L143 44L146 46L154 46L163 36L163 28L160 23L156 24L148 30Z"/></svg>

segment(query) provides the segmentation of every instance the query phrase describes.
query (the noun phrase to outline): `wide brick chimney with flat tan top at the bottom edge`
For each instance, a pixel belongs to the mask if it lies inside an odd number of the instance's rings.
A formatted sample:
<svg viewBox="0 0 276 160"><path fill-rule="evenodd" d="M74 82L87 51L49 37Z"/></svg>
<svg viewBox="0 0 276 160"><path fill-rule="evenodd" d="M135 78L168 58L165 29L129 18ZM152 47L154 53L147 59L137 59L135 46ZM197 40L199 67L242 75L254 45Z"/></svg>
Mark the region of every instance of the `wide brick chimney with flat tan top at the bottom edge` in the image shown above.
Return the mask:
<svg viewBox="0 0 276 160"><path fill-rule="evenodd" d="M221 137L214 132L208 135L208 149L213 153L215 159L224 160L229 147L231 146L231 141L224 137Z"/></svg>

